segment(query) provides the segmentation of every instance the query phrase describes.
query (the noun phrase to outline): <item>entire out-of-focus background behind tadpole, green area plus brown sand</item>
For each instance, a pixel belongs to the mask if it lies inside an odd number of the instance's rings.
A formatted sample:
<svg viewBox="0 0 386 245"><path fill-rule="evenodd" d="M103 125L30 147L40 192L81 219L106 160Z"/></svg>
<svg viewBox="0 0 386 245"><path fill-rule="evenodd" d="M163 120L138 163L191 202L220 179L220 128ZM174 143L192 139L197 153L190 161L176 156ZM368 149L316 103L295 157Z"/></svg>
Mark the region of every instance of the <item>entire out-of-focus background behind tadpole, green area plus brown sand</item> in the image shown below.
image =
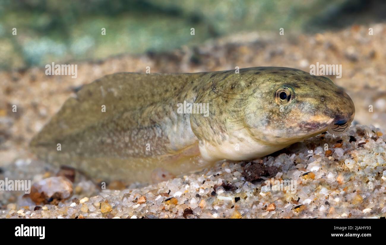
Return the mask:
<svg viewBox="0 0 386 245"><path fill-rule="evenodd" d="M355 123L385 129L385 12L383 0L0 0L0 166L33 158L30 139L79 86L146 66L341 64L330 78L352 97ZM46 76L51 62L77 64L78 77Z"/></svg>

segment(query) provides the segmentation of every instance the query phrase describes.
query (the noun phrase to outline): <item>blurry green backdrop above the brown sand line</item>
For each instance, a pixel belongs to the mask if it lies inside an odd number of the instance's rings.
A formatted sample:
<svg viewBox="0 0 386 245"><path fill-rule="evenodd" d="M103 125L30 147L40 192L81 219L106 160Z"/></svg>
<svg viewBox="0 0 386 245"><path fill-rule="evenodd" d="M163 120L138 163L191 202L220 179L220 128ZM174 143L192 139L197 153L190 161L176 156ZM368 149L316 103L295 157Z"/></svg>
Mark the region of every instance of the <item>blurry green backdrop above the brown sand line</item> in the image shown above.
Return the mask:
<svg viewBox="0 0 386 245"><path fill-rule="evenodd" d="M281 27L288 33L338 30L381 22L385 9L383 0L1 0L0 67L170 51ZM18 33L10 35L14 27Z"/></svg>

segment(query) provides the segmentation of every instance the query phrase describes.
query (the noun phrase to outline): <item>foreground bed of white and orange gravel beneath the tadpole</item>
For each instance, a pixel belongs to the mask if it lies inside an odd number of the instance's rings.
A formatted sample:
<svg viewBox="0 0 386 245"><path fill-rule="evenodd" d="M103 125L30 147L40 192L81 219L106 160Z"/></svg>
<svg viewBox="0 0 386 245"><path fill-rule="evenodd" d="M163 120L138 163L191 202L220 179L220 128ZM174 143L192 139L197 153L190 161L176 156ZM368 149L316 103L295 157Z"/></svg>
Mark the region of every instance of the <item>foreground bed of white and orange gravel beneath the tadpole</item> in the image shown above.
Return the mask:
<svg viewBox="0 0 386 245"><path fill-rule="evenodd" d="M81 180L58 205L20 195L3 204L0 218L380 218L386 215L385 140L379 129L357 125L252 162L217 163L141 188L101 191ZM33 183L44 179L47 169L31 168ZM2 175L20 177L20 171ZM0 198L12 200L9 193Z"/></svg>

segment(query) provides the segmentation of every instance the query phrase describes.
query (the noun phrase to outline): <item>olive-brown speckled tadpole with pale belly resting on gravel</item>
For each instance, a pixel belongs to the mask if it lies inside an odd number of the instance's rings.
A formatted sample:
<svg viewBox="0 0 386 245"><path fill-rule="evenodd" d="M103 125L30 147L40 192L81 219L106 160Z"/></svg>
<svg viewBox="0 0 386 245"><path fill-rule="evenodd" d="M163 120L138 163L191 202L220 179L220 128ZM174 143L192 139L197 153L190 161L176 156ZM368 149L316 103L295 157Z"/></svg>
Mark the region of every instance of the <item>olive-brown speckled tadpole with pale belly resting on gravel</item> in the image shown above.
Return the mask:
<svg viewBox="0 0 386 245"><path fill-rule="evenodd" d="M209 103L208 116L177 113L184 101ZM265 156L334 123L349 124L354 113L330 79L297 69L118 73L69 98L31 147L98 180L160 181L221 159Z"/></svg>

